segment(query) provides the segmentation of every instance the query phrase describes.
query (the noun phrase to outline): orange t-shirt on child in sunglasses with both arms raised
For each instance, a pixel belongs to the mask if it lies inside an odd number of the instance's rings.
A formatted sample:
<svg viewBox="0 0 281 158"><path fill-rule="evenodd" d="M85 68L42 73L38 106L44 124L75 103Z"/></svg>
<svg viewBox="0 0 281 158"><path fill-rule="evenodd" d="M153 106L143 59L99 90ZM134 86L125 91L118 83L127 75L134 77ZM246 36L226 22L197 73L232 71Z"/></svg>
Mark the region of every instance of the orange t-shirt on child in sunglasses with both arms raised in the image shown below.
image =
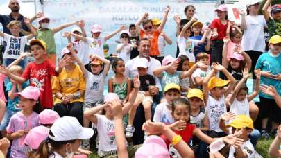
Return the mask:
<svg viewBox="0 0 281 158"><path fill-rule="evenodd" d="M158 30L154 30L153 33L148 34L144 33L144 30L140 30L139 36L141 38L148 38L151 41L151 52L150 55L160 55L158 50L158 38L159 38L160 32Z"/></svg>

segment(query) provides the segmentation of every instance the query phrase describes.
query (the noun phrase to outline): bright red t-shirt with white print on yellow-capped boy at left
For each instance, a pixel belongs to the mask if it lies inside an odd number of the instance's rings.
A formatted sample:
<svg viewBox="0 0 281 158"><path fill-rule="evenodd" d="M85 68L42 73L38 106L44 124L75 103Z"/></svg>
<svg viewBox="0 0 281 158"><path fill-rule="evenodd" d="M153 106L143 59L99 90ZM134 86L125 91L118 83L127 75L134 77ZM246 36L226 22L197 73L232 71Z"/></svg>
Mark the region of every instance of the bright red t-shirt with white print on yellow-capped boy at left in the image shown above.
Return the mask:
<svg viewBox="0 0 281 158"><path fill-rule="evenodd" d="M41 64L31 62L22 74L23 78L29 80L31 86L40 89L40 104L42 108L53 107L51 76L58 76L55 69L56 65L49 62L49 60L45 60Z"/></svg>

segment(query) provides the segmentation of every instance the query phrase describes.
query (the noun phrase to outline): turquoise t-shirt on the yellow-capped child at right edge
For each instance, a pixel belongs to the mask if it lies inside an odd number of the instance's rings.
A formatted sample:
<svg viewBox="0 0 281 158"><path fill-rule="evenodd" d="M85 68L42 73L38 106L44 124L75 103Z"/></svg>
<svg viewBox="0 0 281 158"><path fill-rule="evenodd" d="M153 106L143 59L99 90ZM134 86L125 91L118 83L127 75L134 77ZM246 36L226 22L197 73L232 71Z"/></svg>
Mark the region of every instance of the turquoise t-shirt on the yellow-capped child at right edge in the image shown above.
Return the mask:
<svg viewBox="0 0 281 158"><path fill-rule="evenodd" d="M261 71L269 71L269 73L273 75L278 75L281 73L281 55L278 57L273 57L270 53L263 53L259 56L257 60L257 64L255 65L255 69L261 69ZM281 95L281 81L275 80L272 78L266 78L264 76L261 77L260 80L261 85L272 85L278 91L278 94ZM259 93L260 96L264 98L271 98L271 96L262 93Z"/></svg>

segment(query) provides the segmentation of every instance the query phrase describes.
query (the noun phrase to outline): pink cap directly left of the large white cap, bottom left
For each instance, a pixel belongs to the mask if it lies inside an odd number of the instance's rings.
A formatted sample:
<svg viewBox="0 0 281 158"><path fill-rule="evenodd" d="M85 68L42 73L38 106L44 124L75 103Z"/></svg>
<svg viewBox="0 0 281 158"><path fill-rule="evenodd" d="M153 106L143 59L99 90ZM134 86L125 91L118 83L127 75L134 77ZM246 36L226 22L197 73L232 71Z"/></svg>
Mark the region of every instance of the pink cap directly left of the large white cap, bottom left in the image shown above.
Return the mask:
<svg viewBox="0 0 281 158"><path fill-rule="evenodd" d="M49 128L43 125L32 128L24 139L24 144L32 149L37 149L42 141L49 135Z"/></svg>

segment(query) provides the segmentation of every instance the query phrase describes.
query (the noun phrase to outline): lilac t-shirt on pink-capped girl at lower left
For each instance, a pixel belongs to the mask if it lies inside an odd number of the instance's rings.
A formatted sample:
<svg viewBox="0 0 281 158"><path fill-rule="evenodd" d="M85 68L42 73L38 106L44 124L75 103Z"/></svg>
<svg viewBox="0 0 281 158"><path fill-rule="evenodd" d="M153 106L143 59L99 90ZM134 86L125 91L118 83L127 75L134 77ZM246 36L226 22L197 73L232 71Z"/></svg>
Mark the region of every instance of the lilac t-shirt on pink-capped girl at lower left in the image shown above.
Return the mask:
<svg viewBox="0 0 281 158"><path fill-rule="evenodd" d="M33 112L30 116L26 117L22 114L22 111L14 114L7 127L8 133L14 133L19 130L31 130L40 125L38 122L38 114ZM12 140L11 157L26 158L28 147L24 145L24 137Z"/></svg>

